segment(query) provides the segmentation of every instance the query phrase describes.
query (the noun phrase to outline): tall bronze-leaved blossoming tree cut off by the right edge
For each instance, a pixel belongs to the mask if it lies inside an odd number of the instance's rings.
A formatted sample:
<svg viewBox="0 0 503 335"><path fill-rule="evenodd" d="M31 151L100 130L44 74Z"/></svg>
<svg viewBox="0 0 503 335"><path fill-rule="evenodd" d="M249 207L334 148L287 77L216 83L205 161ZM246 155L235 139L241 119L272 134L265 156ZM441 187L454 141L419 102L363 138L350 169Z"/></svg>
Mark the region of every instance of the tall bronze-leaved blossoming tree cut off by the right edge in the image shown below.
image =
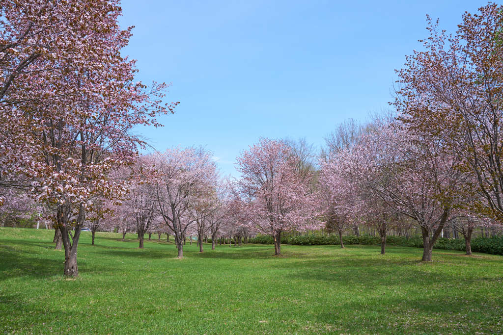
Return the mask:
<svg viewBox="0 0 503 335"><path fill-rule="evenodd" d="M465 13L455 34L429 19L424 51L414 51L398 71L394 105L417 133L445 142L473 173L461 190L475 193L471 210L503 217L503 6L489 3Z"/></svg>

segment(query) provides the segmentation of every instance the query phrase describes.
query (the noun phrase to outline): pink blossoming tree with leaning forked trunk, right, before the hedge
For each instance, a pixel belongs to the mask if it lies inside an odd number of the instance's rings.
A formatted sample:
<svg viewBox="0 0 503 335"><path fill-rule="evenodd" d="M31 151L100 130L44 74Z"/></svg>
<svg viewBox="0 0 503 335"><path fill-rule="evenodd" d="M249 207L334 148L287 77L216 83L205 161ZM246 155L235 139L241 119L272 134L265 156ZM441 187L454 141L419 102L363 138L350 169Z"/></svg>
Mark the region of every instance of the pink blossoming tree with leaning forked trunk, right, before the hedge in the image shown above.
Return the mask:
<svg viewBox="0 0 503 335"><path fill-rule="evenodd" d="M431 261L433 245L462 203L457 188L465 180L456 168L457 156L447 154L434 138L417 136L397 123L365 135L345 158L341 169L353 173L395 213L414 220L423 235L423 261Z"/></svg>

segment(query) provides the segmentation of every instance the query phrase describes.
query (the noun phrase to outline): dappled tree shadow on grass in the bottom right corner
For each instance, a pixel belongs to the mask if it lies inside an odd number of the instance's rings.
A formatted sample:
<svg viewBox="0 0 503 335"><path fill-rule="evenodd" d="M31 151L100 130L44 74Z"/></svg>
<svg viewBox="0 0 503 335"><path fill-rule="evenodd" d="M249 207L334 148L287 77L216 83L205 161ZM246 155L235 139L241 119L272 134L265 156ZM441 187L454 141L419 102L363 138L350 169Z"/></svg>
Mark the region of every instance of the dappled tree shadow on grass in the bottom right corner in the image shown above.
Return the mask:
<svg viewBox="0 0 503 335"><path fill-rule="evenodd" d="M490 302L493 308L478 311L473 308L487 302L487 297L464 299L455 290L438 290L433 297L412 299L383 294L366 297L365 301L351 297L348 300L334 301L333 306L325 307L329 310L316 314L316 321L336 327L358 324L357 327L370 333L501 333L503 305L494 297Z"/></svg>

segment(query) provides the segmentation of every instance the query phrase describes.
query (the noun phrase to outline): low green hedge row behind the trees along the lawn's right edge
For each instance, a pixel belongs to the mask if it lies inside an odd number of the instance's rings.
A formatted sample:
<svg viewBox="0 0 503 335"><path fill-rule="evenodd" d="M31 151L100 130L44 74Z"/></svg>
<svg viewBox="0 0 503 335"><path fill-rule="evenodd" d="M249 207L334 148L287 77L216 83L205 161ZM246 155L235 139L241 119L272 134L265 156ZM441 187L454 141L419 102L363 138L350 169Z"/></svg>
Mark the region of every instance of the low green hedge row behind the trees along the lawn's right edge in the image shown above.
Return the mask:
<svg viewBox="0 0 503 335"><path fill-rule="evenodd" d="M297 246L321 246L321 245L338 245L339 237L336 235L321 236L321 235L305 235L305 236L288 236L282 239L283 244L291 244ZM268 235L261 235L250 239L249 243L257 244L273 244L273 238ZM370 235L347 235L343 236L345 245L361 244L361 245L380 245L381 238ZM388 246L400 247L415 247L423 248L423 239L415 236L406 238L404 236L388 236L386 244ZM444 250L460 250L465 251L465 241L462 239L443 239L437 240L434 246L435 249ZM482 238L478 237L471 241L472 252L486 253L493 255L503 255L503 237Z"/></svg>

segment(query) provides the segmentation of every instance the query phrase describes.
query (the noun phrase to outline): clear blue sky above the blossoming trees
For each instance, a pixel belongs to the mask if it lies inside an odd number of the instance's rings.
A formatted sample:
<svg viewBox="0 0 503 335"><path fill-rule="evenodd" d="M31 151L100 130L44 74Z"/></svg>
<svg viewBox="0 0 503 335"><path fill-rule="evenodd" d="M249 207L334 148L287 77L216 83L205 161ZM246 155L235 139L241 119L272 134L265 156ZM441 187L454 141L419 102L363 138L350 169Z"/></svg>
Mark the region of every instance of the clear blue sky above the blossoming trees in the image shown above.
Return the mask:
<svg viewBox="0 0 503 335"><path fill-rule="evenodd" d="M426 14L454 32L486 3L123 1L138 79L172 82L166 100L181 102L165 127L139 132L161 151L203 145L233 175L236 155L260 137L321 146L345 119L388 107L394 69L428 36Z"/></svg>

